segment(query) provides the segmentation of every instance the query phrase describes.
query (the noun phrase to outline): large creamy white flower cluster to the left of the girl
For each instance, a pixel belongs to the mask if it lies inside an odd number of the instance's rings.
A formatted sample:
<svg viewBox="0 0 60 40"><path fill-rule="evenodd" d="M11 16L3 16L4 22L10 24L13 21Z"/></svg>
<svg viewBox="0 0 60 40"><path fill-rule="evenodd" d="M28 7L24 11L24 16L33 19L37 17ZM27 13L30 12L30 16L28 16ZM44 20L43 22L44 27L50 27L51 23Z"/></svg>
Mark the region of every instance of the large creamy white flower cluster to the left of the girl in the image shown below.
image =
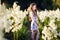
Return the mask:
<svg viewBox="0 0 60 40"><path fill-rule="evenodd" d="M0 7L0 19L3 20L5 32L9 32L11 29L12 32L20 29L27 12L20 11L20 6L18 6L16 2L13 4L13 8L7 9L4 4L0 5Z"/></svg>

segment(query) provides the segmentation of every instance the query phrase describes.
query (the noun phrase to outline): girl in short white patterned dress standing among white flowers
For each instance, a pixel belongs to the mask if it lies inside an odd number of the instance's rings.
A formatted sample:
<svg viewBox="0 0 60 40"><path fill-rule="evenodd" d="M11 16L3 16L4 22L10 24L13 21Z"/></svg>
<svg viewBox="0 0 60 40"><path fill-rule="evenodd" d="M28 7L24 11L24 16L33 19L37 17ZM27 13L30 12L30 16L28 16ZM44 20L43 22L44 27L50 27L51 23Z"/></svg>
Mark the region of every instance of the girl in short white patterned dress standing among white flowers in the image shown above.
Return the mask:
<svg viewBox="0 0 60 40"><path fill-rule="evenodd" d="M38 16L37 16L37 7L35 3L31 3L28 8L29 11L29 20L31 21L31 37L32 40L39 39L39 24L38 24Z"/></svg>

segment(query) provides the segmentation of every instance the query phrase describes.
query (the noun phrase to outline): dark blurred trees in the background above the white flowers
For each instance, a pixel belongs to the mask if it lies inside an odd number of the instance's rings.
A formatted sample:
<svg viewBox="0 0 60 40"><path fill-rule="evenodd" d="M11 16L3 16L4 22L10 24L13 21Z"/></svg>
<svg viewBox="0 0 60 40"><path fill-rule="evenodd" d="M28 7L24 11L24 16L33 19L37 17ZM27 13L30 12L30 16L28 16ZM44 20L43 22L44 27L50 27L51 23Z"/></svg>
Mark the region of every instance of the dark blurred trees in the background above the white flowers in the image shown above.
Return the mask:
<svg viewBox="0 0 60 40"><path fill-rule="evenodd" d="M1 0L1 4L4 3L9 8L15 1L21 6L21 10L27 9L29 4L33 2L37 4L39 10L60 8L60 0Z"/></svg>

